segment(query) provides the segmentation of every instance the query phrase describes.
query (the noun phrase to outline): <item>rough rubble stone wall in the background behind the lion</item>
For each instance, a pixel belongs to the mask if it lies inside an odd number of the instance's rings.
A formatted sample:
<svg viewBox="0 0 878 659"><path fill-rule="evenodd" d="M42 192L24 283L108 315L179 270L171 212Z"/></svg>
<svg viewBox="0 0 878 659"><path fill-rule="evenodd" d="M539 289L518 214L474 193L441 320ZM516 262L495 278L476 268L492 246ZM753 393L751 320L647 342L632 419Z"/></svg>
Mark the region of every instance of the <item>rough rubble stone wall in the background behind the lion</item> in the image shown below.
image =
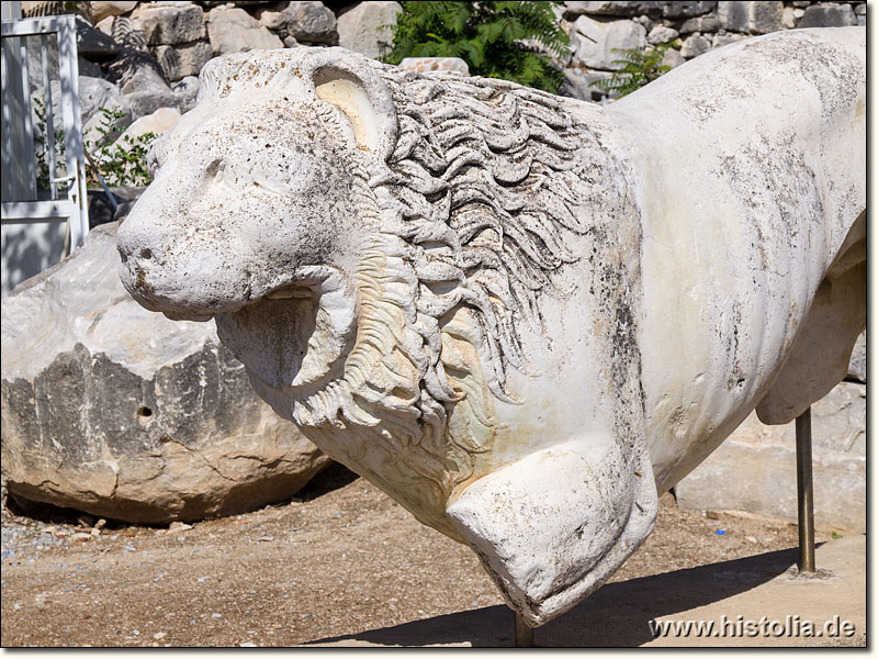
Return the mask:
<svg viewBox="0 0 878 659"><path fill-rule="evenodd" d="M254 48L340 45L378 57L401 7L376 2L158 1L82 2L81 72L121 87L131 121L160 107L185 112L194 80L213 57ZM64 11L63 2L22 2L24 15ZM569 1L556 8L571 36L560 62L562 93L600 100L592 86L619 66L616 48L667 44L678 66L748 36L813 26L865 25L866 3L810 1ZM382 27L383 26L383 27ZM109 38L108 38L109 37Z"/></svg>

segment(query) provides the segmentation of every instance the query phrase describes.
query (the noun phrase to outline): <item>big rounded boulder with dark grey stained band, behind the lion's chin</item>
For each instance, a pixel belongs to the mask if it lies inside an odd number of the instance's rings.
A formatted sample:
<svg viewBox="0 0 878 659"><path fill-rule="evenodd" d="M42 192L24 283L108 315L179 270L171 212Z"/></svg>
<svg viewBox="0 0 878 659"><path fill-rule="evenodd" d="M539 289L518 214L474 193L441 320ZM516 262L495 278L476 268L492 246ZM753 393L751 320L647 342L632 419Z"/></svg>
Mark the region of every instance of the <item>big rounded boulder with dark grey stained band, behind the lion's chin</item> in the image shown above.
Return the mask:
<svg viewBox="0 0 878 659"><path fill-rule="evenodd" d="M327 458L256 398L213 323L146 312L116 264L102 225L3 300L9 492L142 523L294 494Z"/></svg>

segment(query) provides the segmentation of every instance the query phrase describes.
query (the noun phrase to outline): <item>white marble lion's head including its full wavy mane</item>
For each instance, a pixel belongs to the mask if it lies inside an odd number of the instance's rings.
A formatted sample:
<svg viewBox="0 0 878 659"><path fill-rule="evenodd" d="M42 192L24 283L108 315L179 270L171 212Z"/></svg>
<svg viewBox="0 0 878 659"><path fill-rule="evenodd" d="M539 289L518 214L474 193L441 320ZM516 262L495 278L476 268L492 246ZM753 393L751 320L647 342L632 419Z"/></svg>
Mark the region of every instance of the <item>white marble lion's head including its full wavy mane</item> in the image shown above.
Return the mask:
<svg viewBox="0 0 878 659"><path fill-rule="evenodd" d="M552 272L584 226L587 126L550 94L340 48L202 71L119 232L148 309L214 317L257 392L421 522L492 448ZM577 150L578 149L578 150ZM601 200L604 209L619 201Z"/></svg>

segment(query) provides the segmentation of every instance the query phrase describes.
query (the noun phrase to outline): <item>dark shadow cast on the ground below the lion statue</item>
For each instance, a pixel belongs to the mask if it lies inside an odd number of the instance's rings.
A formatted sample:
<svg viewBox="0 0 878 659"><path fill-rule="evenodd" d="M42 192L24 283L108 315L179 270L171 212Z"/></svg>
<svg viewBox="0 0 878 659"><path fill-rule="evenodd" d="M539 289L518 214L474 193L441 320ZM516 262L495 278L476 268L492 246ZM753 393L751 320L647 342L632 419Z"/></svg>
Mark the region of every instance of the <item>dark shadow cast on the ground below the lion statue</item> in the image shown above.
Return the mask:
<svg viewBox="0 0 878 659"><path fill-rule="evenodd" d="M609 583L564 615L534 630L538 647L635 647L653 639L649 622L705 606L770 581L796 565L785 549L698 568ZM475 608L394 627L314 640L376 646L513 645L513 612Z"/></svg>

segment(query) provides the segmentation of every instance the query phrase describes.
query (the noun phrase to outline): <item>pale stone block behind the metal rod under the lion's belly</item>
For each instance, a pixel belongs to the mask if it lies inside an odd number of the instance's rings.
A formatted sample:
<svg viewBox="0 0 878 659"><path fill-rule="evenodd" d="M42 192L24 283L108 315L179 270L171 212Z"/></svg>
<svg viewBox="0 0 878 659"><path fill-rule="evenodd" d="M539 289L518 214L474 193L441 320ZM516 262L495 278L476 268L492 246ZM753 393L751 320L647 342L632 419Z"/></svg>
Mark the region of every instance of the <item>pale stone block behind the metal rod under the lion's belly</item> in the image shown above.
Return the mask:
<svg viewBox="0 0 878 659"><path fill-rule="evenodd" d="M811 407L814 523L866 530L866 387L838 384ZM751 415L676 487L677 504L798 520L795 424Z"/></svg>

